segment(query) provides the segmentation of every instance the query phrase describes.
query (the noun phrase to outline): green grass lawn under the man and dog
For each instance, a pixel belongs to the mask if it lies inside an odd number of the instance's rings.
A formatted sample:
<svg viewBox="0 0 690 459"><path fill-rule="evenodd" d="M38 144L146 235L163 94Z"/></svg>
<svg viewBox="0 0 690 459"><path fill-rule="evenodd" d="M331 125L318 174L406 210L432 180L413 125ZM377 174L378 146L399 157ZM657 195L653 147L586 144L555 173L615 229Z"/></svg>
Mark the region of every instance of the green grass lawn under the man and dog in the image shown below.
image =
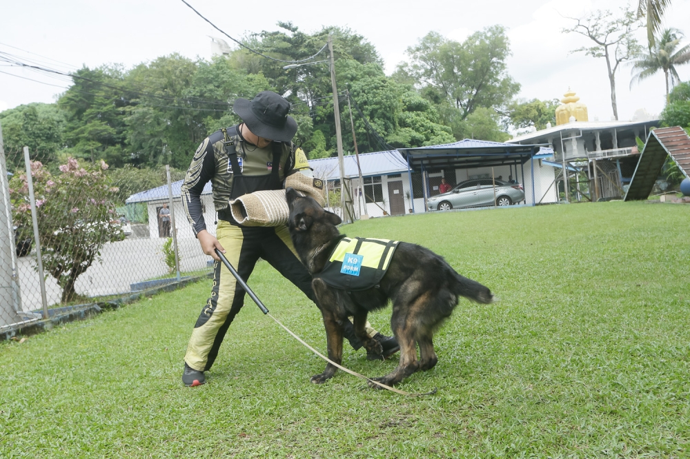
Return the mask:
<svg viewBox="0 0 690 459"><path fill-rule="evenodd" d="M0 343L0 457L690 457L690 206L595 203L377 218L500 301L461 300L438 365L362 389L246 299L208 384L182 358L208 281ZM324 353L317 308L267 263L250 285ZM370 316L389 334L390 309ZM346 348L344 364L381 376Z"/></svg>

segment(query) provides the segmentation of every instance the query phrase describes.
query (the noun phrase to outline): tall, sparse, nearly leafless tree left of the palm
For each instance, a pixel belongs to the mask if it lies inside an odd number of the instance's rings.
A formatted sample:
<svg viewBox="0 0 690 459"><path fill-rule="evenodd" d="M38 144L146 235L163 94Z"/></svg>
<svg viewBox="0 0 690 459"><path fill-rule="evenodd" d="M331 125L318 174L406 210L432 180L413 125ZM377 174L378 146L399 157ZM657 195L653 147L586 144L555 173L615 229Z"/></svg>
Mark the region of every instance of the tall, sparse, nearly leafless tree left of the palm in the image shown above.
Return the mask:
<svg viewBox="0 0 690 459"><path fill-rule="evenodd" d="M591 12L584 19L569 18L577 23L564 33L575 32L589 38L595 43L591 47L582 47L571 52L584 52L591 57L606 59L609 84L611 85L611 108L613 116L618 119L618 104L615 100L615 72L620 63L629 61L642 49L635 39L634 32L641 27L640 19L629 8L621 8L621 14L614 17L609 10Z"/></svg>

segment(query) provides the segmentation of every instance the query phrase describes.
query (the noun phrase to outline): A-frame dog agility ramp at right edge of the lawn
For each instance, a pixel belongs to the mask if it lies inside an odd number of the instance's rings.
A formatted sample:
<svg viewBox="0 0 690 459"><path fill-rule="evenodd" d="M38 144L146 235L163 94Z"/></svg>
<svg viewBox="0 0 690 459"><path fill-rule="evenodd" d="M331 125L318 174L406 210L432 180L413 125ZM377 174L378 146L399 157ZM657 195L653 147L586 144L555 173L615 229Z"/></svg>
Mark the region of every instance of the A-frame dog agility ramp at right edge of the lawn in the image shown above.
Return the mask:
<svg viewBox="0 0 690 459"><path fill-rule="evenodd" d="M624 201L647 199L659 176L667 156L671 155L685 176L690 175L690 137L680 126L655 129L650 132L647 143L635 167L630 187Z"/></svg>

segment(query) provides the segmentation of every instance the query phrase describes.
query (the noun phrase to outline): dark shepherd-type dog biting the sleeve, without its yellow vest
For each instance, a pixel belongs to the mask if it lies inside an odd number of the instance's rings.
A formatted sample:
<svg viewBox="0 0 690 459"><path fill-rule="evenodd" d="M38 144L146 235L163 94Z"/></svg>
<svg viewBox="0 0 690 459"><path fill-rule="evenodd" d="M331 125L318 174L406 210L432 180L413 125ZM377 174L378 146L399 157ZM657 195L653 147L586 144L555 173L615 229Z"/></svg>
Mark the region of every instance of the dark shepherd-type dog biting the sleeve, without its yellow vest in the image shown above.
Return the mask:
<svg viewBox="0 0 690 459"><path fill-rule="evenodd" d="M313 277L312 287L317 307L324 318L328 358L338 365L342 363L342 324L348 316L353 317L355 333L366 350L381 355L381 344L364 330L366 316L369 311L385 307L388 300L393 304L391 329L400 344L400 362L386 376L373 378L392 386L415 371L426 371L436 365L438 358L433 347L433 333L451 316L460 296L484 304L493 300L488 287L460 276L441 256L420 245L397 241L373 240L374 245L388 247L388 252L382 256L382 259L388 261L388 269L380 280L375 279L377 283L373 287L348 290L334 287L332 282L329 285L324 280L324 268L333 264L331 255L335 254L337 247L341 247L346 237L336 227L342 223L341 218L324 210L313 198L302 196L293 188L286 190L286 201L290 210L290 237L299 258ZM393 245L396 247L393 248ZM349 263L346 260L355 265L357 263L357 258L349 253L343 263ZM348 265L347 269L351 268ZM356 271L357 267L353 269ZM380 273L381 269L377 272ZM354 276L351 277L354 279ZM359 278L354 280L355 283L359 281ZM346 282L350 282L349 278ZM418 360L416 345L420 347ZM325 383L333 378L336 371L337 367L328 363L322 374L311 377L311 382ZM380 388L371 381L368 385Z"/></svg>

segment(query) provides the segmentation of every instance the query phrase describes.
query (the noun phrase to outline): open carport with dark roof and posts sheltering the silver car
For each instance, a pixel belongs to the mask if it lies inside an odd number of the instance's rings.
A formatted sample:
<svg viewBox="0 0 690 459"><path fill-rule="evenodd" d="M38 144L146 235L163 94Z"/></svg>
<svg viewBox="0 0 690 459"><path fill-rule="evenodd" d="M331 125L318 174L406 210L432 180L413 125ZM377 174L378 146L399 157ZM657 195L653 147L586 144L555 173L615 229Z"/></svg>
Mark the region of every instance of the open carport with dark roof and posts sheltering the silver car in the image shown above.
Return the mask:
<svg viewBox="0 0 690 459"><path fill-rule="evenodd" d="M535 160L540 156L553 155L549 145L520 145L473 139L428 147L399 148L398 151L406 159L408 171L422 174L425 208L431 191L429 174L444 170L490 170L491 167L505 169L506 166L509 167L510 174L515 180L523 184L525 201L529 193L531 194L530 204L535 205L535 188L538 187L538 181L540 181L540 174L535 177ZM528 161L528 175L525 176L525 165ZM542 167L541 161L538 167ZM412 174L409 176L412 177ZM529 190L526 179L529 179ZM549 179L549 186L552 181L553 173ZM412 187L412 179L410 179L410 187Z"/></svg>

